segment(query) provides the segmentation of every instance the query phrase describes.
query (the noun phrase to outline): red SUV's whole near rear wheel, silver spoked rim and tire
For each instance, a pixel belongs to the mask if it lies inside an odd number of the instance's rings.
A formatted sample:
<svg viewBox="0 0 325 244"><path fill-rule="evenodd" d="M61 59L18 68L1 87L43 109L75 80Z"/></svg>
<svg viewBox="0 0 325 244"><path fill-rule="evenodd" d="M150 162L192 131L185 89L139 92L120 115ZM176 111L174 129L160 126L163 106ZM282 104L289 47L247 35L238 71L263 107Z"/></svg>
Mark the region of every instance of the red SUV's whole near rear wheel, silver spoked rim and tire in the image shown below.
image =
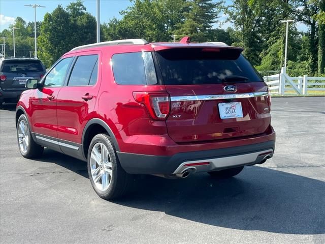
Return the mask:
<svg viewBox="0 0 325 244"><path fill-rule="evenodd" d="M101 198L109 200L125 194L130 175L121 167L108 135L94 136L88 149L87 162L91 186Z"/></svg>

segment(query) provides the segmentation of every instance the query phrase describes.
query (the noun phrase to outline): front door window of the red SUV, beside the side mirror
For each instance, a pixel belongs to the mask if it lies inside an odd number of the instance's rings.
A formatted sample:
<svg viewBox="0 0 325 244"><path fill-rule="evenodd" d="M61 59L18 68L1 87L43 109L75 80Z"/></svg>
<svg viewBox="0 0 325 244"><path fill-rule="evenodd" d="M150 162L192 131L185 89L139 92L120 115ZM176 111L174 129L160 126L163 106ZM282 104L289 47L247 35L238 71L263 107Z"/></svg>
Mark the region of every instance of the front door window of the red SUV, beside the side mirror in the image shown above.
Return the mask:
<svg viewBox="0 0 325 244"><path fill-rule="evenodd" d="M67 57L56 64L50 73L48 73L46 76L44 86L62 86L71 61L72 57Z"/></svg>

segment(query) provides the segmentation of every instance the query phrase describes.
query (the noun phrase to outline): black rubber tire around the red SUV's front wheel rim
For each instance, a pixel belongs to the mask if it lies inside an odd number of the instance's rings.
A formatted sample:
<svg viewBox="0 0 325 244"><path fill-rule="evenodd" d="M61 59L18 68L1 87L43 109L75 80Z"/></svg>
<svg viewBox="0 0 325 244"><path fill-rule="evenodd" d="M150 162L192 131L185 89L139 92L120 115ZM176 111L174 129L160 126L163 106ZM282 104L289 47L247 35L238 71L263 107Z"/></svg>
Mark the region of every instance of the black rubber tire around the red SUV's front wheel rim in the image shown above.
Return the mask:
<svg viewBox="0 0 325 244"><path fill-rule="evenodd" d="M20 146L20 143L19 143L19 133L18 132L19 132L19 125L20 125L20 122L22 120L24 121L25 126L27 127L26 136L28 136L28 143L26 143L27 144L27 150L26 151L22 150L22 148ZM37 157L40 157L43 154L44 147L37 144L34 141L34 139L32 138L31 133L30 133L30 127L29 127L29 124L28 124L28 120L27 120L27 117L26 117L25 114L20 115L20 117L18 118L18 122L17 122L17 140L18 140L18 148L19 148L20 154L24 158L27 158L27 159L37 158Z"/></svg>

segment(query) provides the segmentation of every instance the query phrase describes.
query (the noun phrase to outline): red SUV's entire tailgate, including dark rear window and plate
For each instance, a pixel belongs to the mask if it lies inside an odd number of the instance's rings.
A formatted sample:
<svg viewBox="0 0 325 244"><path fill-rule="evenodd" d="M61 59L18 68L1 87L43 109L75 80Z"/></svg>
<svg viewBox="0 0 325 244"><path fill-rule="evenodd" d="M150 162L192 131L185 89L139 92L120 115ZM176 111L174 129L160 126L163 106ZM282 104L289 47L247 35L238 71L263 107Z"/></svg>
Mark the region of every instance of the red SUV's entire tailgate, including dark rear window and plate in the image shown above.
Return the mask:
<svg viewBox="0 0 325 244"><path fill-rule="evenodd" d="M188 143L264 133L271 122L265 82L241 49L203 49L157 52L171 97L169 136Z"/></svg>

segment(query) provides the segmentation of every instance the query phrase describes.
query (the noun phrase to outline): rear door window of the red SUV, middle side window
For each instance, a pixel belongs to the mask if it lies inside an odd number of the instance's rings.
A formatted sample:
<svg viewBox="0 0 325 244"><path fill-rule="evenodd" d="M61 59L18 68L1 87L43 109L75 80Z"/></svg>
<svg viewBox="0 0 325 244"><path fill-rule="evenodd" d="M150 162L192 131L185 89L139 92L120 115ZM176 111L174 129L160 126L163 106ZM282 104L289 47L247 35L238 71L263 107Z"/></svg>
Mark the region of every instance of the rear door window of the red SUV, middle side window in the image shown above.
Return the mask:
<svg viewBox="0 0 325 244"><path fill-rule="evenodd" d="M97 63L98 55L79 56L72 69L68 86L89 85L92 72ZM96 70L97 72L97 70ZM91 81L96 83L95 81Z"/></svg>

